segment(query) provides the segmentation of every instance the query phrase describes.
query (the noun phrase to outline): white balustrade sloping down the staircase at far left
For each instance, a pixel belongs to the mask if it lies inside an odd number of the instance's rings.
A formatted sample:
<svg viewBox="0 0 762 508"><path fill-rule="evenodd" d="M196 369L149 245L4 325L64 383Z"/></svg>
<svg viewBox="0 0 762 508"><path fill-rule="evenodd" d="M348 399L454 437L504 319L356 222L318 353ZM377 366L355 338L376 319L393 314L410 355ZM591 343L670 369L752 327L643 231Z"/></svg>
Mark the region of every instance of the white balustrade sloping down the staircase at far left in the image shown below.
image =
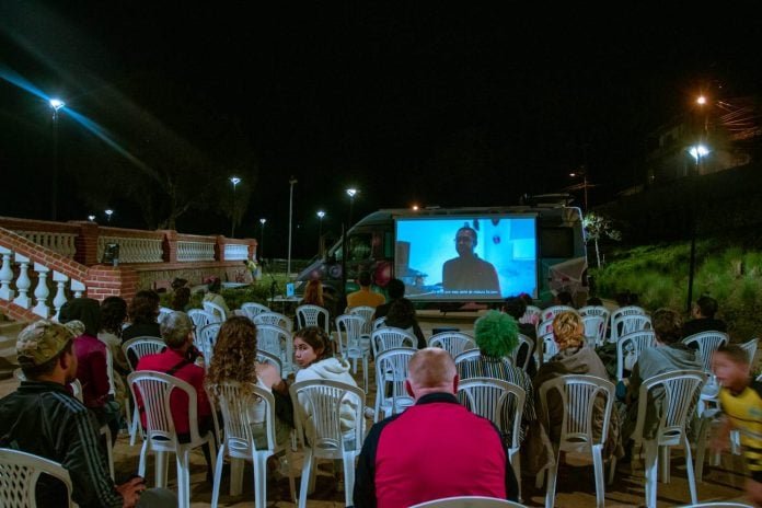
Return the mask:
<svg viewBox="0 0 762 508"><path fill-rule="evenodd" d="M80 280L70 279L60 272L53 270L51 284L55 285L55 296L53 301L48 302L51 292L50 287L48 287L50 268L41 263L34 263L23 254L13 252L2 245L0 245L0 256L2 256L2 265L0 265L1 300L30 309L41 318L50 318L51 315L57 318L61 307L67 302L67 282L74 298L80 298L84 295L84 284ZM19 265L19 277L16 277L15 281L13 280L13 264ZM30 296L30 289L32 289L30 267L37 274L37 285L32 296ZM11 289L12 284L14 284L15 290Z"/></svg>

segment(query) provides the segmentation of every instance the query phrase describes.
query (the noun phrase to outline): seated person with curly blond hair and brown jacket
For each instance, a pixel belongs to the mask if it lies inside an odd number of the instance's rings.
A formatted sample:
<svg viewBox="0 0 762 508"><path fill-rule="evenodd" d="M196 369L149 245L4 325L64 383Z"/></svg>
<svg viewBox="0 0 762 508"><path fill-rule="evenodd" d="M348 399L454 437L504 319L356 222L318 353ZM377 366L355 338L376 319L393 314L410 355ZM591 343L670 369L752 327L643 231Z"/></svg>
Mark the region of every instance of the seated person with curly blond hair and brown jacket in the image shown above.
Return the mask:
<svg viewBox="0 0 762 508"><path fill-rule="evenodd" d="M532 380L535 390L536 407L540 407L539 394L543 383L566 374L587 374L596 376L608 380L608 373L601 359L592 348L585 346L585 325L582 319L572 311L562 312L553 320L553 338L558 345L558 354L551 358L538 370L538 374ZM598 400L594 404L596 415L593 434L600 436L603 427L603 401ZM564 417L564 407L561 397L556 392L547 395L547 411L550 428L547 434L553 442L561 438L561 424ZM604 457L612 453L616 457L623 455L620 443L620 419L616 412L612 412L609 424L609 435L605 443Z"/></svg>

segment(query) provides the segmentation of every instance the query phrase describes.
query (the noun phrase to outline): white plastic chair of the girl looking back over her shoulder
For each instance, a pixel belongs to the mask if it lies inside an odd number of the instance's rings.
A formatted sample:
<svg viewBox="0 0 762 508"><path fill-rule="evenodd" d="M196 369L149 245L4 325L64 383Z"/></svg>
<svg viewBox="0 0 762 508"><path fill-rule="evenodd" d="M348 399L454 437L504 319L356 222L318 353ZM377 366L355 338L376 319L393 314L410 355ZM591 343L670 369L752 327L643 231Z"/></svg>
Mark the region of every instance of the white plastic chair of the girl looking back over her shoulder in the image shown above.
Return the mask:
<svg viewBox="0 0 762 508"><path fill-rule="evenodd" d="M310 380L293 383L289 391L293 401L297 435L304 449L299 508L307 507L307 495L314 485L315 459L342 460L344 463L344 496L350 506L355 487L355 461L365 437L365 392L337 381ZM345 401L350 403L346 403ZM340 413L354 407L355 427L342 429Z"/></svg>

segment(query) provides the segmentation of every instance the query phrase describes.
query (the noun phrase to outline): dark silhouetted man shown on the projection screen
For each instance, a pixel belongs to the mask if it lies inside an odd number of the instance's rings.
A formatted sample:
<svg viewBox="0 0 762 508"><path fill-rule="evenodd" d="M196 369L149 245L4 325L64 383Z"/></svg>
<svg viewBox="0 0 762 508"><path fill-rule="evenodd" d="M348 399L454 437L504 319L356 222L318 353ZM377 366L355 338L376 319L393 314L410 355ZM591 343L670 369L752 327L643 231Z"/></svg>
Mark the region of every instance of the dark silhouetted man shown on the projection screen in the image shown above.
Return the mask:
<svg viewBox="0 0 762 508"><path fill-rule="evenodd" d="M455 233L458 257L444 262L442 266L442 287L444 291L478 290L500 295L500 282L495 267L474 253L476 231L467 226Z"/></svg>

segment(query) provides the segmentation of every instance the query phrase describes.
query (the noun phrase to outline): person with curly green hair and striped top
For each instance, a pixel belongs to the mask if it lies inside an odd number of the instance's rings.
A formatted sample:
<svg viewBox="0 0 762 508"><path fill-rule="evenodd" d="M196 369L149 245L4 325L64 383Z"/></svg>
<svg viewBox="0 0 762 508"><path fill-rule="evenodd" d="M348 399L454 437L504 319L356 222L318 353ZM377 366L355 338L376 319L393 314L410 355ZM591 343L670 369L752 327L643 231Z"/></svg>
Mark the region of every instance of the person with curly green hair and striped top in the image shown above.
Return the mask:
<svg viewBox="0 0 762 508"><path fill-rule="evenodd" d="M508 314L488 311L474 323L474 339L480 356L458 365L461 380L471 378L494 378L521 386L527 393L521 416L523 440L530 423L538 416L534 411L534 391L529 376L513 365L510 355L519 346L519 324Z"/></svg>

